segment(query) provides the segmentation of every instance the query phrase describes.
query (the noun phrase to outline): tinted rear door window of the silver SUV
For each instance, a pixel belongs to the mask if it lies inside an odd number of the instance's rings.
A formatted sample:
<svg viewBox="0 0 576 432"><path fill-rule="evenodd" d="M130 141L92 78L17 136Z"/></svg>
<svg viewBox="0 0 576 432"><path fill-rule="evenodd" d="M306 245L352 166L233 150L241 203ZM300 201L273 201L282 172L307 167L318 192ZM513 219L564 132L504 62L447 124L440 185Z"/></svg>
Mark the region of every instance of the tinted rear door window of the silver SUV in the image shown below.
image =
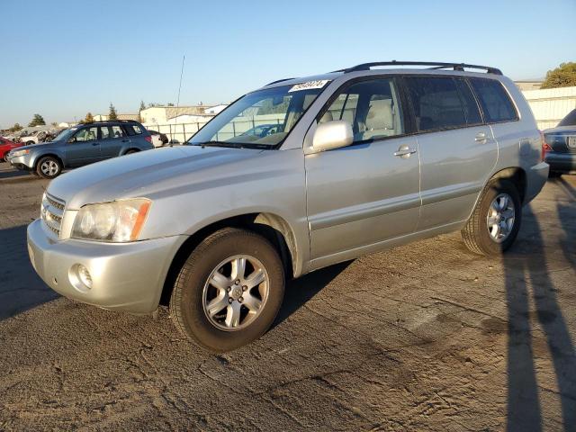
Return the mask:
<svg viewBox="0 0 576 432"><path fill-rule="evenodd" d="M409 76L405 82L419 131L445 130L482 122L472 92L452 77Z"/></svg>

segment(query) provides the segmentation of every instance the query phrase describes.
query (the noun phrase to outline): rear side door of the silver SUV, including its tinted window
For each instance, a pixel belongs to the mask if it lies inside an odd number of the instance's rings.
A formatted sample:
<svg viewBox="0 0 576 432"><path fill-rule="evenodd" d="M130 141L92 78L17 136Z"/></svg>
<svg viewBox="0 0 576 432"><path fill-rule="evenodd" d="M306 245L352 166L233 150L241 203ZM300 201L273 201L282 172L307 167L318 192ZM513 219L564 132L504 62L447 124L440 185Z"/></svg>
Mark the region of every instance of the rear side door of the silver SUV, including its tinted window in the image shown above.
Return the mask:
<svg viewBox="0 0 576 432"><path fill-rule="evenodd" d="M419 142L422 208L418 230L466 220L498 158L463 77L406 76Z"/></svg>

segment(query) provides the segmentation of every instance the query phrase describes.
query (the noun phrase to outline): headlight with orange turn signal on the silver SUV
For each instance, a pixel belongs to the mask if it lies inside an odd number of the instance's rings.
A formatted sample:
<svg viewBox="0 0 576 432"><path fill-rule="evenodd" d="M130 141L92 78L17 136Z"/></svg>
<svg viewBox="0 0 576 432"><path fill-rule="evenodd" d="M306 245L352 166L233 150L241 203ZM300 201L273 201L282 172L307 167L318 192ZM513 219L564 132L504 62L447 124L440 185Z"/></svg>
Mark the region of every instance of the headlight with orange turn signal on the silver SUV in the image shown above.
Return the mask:
<svg viewBox="0 0 576 432"><path fill-rule="evenodd" d="M138 198L87 204L76 214L72 237L120 243L138 240L151 203Z"/></svg>

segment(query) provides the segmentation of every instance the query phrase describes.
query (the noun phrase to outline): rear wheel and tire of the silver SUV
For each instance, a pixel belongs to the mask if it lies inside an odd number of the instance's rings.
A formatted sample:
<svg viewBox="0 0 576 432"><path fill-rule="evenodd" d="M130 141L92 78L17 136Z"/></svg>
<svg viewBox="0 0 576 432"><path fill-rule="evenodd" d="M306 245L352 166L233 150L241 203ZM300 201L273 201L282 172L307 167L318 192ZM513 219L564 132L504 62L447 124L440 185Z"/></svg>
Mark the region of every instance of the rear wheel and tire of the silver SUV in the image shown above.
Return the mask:
<svg viewBox="0 0 576 432"><path fill-rule="evenodd" d="M506 197L508 202L503 205ZM493 202L494 208L492 208ZM509 216L512 214L514 219L510 220ZM493 222L491 229L489 229L489 217ZM500 221L496 222L497 220ZM500 255L516 240L521 221L522 203L516 185L505 179L493 180L482 191L472 217L462 229L464 244L476 254ZM502 237L496 239L500 235Z"/></svg>

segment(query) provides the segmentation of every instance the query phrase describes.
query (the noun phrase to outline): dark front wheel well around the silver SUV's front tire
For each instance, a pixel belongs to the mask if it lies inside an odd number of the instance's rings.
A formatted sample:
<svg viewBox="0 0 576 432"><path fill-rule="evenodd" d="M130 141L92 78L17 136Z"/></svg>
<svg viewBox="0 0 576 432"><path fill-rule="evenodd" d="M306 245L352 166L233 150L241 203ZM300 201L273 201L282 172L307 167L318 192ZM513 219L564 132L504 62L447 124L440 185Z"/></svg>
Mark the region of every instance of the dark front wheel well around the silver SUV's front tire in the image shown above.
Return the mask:
<svg viewBox="0 0 576 432"><path fill-rule="evenodd" d="M288 277L294 276L294 269L297 268L300 256L296 246L294 231L290 224L283 217L270 212L239 214L211 222L202 227L202 229L198 229L184 241L172 258L160 295L160 304L167 305L170 301L170 295L178 272L193 249L213 232L229 227L254 231L270 241L283 261L285 275Z"/></svg>

